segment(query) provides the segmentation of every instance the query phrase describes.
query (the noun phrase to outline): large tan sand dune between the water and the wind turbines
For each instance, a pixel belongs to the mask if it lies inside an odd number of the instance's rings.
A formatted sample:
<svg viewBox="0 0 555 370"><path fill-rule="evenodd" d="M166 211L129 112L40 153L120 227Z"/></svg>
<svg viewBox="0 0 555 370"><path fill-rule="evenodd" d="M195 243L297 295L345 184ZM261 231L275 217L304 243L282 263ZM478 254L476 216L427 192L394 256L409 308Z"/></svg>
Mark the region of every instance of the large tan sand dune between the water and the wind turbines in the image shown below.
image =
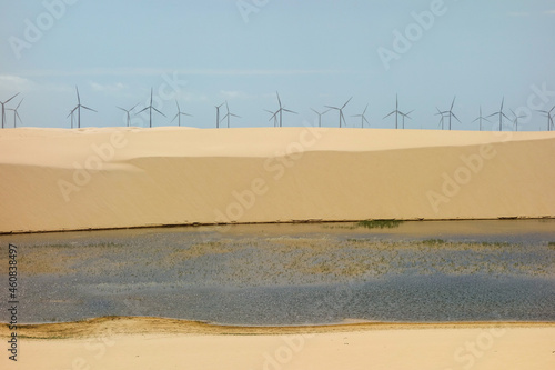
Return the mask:
<svg viewBox="0 0 555 370"><path fill-rule="evenodd" d="M0 232L555 217L555 132L0 131Z"/></svg>

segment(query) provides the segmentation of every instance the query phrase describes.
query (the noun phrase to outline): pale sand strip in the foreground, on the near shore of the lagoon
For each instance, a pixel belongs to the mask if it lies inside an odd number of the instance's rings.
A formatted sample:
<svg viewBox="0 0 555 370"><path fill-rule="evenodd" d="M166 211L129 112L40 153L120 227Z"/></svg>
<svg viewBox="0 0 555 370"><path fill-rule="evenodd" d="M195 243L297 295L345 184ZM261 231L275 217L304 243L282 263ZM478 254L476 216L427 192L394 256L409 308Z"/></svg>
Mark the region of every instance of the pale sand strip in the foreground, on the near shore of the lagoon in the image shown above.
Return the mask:
<svg viewBox="0 0 555 370"><path fill-rule="evenodd" d="M153 321L162 321L159 330L153 331ZM268 328L253 333L253 328L163 321L100 319L90 329L81 322L65 324L73 328L64 331L40 330L41 339L19 338L18 361L6 352L0 368L547 370L555 366L551 323ZM6 327L0 327L2 340L6 334Z"/></svg>

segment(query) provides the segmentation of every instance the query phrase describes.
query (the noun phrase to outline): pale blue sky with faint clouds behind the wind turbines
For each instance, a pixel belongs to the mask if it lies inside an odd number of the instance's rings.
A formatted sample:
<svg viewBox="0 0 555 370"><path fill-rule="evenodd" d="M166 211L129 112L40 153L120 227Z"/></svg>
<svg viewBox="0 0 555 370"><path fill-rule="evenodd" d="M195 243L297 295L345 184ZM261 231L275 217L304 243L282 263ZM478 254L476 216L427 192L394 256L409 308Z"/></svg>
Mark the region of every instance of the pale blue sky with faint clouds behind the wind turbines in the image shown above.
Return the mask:
<svg viewBox="0 0 555 370"><path fill-rule="evenodd" d="M394 117L382 118L395 108L396 93L400 110L414 110L406 121L412 129L437 128L436 107L447 110L455 94L457 130L477 129L480 106L491 114L503 97L508 117L509 109L525 116L521 130L545 130L547 120L535 110L555 106L553 0L0 4L0 100L21 92L27 127L69 127L75 86L82 103L99 111L82 111L83 127L124 126L115 107L144 108L151 88L167 116L154 114L157 127L176 124L170 123L174 99L193 116L182 118L185 126L214 127L214 106L226 100L241 116L232 127L271 127L264 109L278 109L276 90L299 112L284 116L287 127L313 124L310 108L350 97L347 127L360 127L352 116L370 104L370 127L394 128ZM13 126L12 112L8 122ZM132 124L147 127L148 117L134 116ZM323 117L323 126L337 124L337 112Z"/></svg>

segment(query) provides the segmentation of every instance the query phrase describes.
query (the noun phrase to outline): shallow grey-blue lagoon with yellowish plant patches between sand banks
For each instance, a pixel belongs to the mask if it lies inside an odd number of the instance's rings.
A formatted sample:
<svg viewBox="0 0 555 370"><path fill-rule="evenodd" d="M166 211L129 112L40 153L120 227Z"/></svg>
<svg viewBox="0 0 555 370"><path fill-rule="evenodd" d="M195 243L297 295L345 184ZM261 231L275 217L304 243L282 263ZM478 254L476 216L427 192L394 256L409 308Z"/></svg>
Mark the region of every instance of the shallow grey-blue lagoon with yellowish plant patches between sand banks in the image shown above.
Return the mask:
<svg viewBox="0 0 555 370"><path fill-rule="evenodd" d="M0 237L8 242L19 247L23 322L555 321L555 220ZM0 263L6 269L6 256Z"/></svg>

